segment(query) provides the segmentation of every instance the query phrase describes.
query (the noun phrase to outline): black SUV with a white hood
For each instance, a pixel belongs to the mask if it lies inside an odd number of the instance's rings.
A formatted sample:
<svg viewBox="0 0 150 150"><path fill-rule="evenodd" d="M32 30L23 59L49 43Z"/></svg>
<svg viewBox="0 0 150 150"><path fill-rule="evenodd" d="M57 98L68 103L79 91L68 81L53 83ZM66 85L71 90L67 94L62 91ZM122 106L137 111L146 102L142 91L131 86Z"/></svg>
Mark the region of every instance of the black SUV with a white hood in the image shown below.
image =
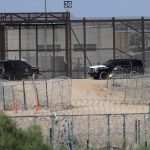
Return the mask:
<svg viewBox="0 0 150 150"><path fill-rule="evenodd" d="M143 63L137 59L111 59L102 65L91 66L88 74L94 79L106 79L112 72L144 74Z"/></svg>

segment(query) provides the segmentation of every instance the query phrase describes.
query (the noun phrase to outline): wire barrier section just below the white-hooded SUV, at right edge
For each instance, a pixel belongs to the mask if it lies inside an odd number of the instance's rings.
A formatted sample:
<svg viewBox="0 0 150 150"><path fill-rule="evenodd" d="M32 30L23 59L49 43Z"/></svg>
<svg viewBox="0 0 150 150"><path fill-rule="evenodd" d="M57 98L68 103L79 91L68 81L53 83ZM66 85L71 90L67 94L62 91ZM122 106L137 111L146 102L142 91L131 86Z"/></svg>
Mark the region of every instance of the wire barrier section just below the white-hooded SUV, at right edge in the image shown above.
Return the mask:
<svg viewBox="0 0 150 150"><path fill-rule="evenodd" d="M129 104L149 104L150 76L136 75L132 78L112 78L108 81L108 88L114 91L123 91L123 103Z"/></svg>

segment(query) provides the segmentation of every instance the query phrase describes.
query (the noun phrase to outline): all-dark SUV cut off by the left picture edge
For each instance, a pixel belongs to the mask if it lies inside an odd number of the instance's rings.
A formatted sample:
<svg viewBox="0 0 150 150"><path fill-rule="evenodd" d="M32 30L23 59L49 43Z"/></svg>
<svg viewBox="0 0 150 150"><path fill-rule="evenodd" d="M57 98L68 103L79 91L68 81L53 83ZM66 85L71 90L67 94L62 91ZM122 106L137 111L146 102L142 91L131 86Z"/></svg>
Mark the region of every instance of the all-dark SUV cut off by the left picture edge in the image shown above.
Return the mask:
<svg viewBox="0 0 150 150"><path fill-rule="evenodd" d="M32 67L22 60L4 60L0 61L0 76L3 79L14 80L39 75L39 68Z"/></svg>

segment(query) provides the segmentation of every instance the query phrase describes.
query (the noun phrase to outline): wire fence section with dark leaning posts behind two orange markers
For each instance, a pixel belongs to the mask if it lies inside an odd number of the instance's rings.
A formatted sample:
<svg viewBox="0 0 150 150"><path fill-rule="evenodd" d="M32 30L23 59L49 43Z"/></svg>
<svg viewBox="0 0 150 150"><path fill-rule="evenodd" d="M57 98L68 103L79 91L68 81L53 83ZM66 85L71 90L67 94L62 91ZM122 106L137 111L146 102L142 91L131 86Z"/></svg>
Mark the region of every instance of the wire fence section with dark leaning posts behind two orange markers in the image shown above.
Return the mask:
<svg viewBox="0 0 150 150"><path fill-rule="evenodd" d="M26 80L0 83L0 109L13 110L14 100L18 110L68 109L71 105L71 80Z"/></svg>

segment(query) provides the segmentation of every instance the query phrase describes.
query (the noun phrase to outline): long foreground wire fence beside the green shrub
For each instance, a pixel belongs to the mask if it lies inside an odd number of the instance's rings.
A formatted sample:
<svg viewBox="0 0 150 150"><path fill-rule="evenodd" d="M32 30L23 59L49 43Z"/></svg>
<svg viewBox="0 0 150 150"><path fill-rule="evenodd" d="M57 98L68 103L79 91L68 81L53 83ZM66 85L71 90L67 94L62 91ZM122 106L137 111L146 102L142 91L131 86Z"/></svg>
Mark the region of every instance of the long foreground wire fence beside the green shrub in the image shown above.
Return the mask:
<svg viewBox="0 0 150 150"><path fill-rule="evenodd" d="M148 113L12 116L26 128L40 125L43 134L56 148L64 144L68 150L90 148L136 149L150 141Z"/></svg>

